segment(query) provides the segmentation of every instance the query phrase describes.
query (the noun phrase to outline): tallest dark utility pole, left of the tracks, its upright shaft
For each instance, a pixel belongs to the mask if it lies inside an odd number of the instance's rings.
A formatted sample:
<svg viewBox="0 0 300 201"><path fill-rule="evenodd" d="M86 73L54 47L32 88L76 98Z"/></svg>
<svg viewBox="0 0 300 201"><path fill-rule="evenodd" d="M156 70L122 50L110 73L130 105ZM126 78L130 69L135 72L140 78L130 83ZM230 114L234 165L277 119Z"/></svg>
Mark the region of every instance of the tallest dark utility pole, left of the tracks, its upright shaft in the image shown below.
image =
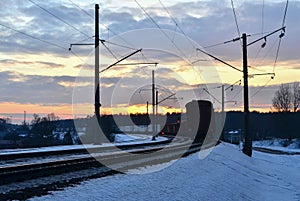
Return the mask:
<svg viewBox="0 0 300 201"><path fill-rule="evenodd" d="M100 122L99 4L95 4L95 115Z"/></svg>

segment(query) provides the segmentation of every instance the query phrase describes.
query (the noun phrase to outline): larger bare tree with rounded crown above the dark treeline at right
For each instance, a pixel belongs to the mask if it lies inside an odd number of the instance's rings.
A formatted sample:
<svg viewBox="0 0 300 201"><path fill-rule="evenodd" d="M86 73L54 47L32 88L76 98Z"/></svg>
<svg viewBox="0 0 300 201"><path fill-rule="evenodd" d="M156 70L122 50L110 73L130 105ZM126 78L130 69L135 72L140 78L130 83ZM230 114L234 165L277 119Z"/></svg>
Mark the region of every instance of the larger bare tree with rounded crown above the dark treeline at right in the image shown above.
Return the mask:
<svg viewBox="0 0 300 201"><path fill-rule="evenodd" d="M278 112L288 112L292 109L292 97L293 94L290 89L290 85L281 85L275 92L275 96L272 100L273 107Z"/></svg>

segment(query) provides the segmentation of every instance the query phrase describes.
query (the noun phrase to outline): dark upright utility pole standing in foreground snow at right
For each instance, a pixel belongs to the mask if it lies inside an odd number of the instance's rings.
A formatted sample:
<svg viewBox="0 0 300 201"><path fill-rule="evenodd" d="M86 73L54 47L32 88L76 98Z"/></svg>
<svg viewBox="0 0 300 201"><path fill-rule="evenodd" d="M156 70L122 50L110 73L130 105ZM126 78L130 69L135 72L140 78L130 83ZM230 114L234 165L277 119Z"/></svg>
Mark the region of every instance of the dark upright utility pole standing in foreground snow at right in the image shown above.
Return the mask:
<svg viewBox="0 0 300 201"><path fill-rule="evenodd" d="M252 156L252 138L249 133L249 89L248 89L248 53L247 35L242 35L243 43L243 75L244 75L244 129L245 143L243 153Z"/></svg>

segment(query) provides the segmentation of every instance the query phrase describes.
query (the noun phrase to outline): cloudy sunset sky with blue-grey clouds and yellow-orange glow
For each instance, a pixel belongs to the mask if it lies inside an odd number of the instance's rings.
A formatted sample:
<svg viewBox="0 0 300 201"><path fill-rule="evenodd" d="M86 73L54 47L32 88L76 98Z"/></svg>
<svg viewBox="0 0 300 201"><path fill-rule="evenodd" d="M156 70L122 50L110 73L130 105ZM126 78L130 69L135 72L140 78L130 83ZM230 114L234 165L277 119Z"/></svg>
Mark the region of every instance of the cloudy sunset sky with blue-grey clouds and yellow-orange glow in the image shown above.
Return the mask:
<svg viewBox="0 0 300 201"><path fill-rule="evenodd" d="M286 33L276 63L280 31L266 38L265 48L261 48L264 40L248 47L249 74L275 73L274 79L270 75L249 79L251 110L270 110L278 86L299 81L297 0L289 1L284 23L285 0L1 0L2 117L18 122L26 111L41 115L54 112L68 118L74 102L92 107L93 47L68 49L71 43L93 43L95 3L100 4L100 37L107 41L100 47L102 69L139 48L143 51L124 63L159 63L157 68L118 66L100 75L101 91L106 95L101 100L104 112L109 113L111 106L123 107L114 110L116 113L125 113L124 108L132 106L129 112L133 112L137 108L133 109L134 104L145 104L150 99L151 69L156 69L160 99L176 93L178 99L187 101L193 91L196 98L218 103L218 86L230 86L242 79L242 73L211 60L196 48L242 69L240 41L224 42L242 33L247 33L251 42L283 25ZM203 90L204 84L215 98ZM226 108L242 109L242 88L237 85L232 89L226 90L226 101L236 102L226 104ZM165 104L174 108L178 103ZM84 108L78 109L78 114L81 110Z"/></svg>

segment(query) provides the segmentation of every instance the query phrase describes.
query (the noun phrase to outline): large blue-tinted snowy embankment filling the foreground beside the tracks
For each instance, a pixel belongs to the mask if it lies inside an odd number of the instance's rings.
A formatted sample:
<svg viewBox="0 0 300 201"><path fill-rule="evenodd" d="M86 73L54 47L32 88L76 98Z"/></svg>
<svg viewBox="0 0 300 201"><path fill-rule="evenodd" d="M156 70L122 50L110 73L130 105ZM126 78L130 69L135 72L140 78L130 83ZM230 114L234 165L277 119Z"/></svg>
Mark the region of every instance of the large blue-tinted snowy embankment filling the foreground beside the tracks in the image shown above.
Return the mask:
<svg viewBox="0 0 300 201"><path fill-rule="evenodd" d="M157 172L89 180L32 200L300 200L299 170L299 155L249 158L222 143L202 160L196 153Z"/></svg>

